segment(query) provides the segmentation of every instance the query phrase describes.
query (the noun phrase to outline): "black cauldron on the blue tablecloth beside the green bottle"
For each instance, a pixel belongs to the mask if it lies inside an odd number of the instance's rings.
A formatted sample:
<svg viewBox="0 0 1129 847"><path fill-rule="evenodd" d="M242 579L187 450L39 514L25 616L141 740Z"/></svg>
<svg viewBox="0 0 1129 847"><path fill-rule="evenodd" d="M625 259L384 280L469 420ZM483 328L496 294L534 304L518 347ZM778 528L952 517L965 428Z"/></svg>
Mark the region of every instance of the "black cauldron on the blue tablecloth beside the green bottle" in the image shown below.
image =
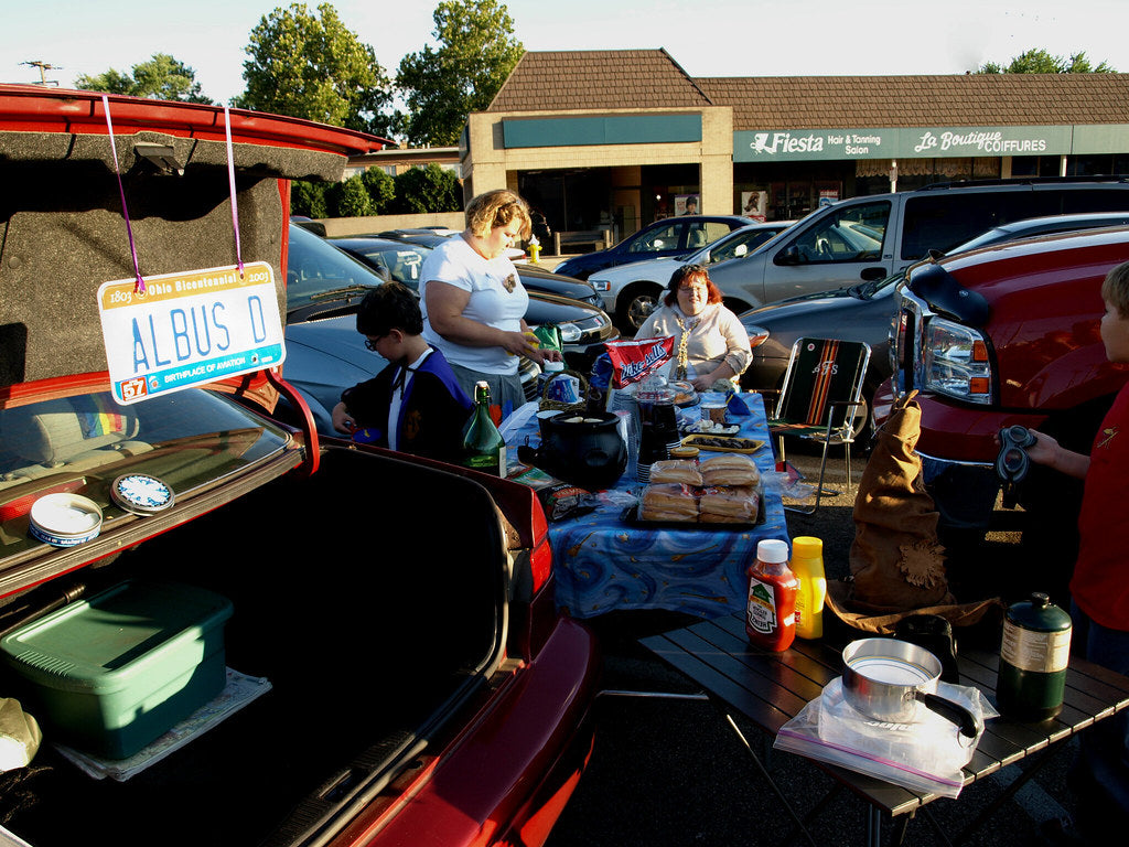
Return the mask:
<svg viewBox="0 0 1129 847"><path fill-rule="evenodd" d="M542 421L541 446L518 447L517 456L588 491L611 488L623 475L628 449L610 412L563 412Z"/></svg>

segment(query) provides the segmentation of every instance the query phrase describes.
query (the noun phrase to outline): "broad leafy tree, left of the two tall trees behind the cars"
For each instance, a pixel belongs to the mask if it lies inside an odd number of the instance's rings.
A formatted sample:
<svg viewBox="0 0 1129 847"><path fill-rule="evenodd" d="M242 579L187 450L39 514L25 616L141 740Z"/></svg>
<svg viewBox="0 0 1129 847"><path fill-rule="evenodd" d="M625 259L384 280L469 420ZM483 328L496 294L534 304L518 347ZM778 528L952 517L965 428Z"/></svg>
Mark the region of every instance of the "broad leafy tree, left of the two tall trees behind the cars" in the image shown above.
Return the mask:
<svg viewBox="0 0 1129 847"><path fill-rule="evenodd" d="M335 126L387 134L392 84L373 47L361 43L330 3L310 14L291 3L251 30L243 63L247 82L236 105Z"/></svg>

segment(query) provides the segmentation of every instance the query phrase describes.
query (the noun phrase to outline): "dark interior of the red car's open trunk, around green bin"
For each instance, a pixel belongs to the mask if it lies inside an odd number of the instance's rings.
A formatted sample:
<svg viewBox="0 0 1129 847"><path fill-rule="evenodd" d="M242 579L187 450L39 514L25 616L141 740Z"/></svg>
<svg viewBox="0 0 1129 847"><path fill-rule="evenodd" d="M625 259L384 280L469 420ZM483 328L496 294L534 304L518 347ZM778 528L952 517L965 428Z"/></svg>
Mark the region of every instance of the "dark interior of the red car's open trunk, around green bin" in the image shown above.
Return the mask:
<svg viewBox="0 0 1129 847"><path fill-rule="evenodd" d="M285 529L247 534L266 514ZM43 586L44 601L64 582L93 593L133 575L215 591L234 605L227 665L271 690L125 781L82 774L49 730L32 767L0 783L6 826L37 847L294 842L378 787L485 682L505 548L474 481L331 448L309 479L275 480Z"/></svg>

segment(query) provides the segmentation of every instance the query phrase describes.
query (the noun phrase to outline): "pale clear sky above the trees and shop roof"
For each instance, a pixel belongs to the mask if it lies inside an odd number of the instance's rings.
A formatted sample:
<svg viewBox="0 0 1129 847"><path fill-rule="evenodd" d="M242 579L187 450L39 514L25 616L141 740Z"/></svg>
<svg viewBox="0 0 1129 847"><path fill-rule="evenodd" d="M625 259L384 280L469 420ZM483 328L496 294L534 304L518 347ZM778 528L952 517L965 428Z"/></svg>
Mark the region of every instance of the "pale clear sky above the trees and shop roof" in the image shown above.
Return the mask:
<svg viewBox="0 0 1129 847"><path fill-rule="evenodd" d="M435 44L437 0L338 0L344 25L369 44L390 77L400 60ZM508 0L526 50L664 47L692 77L963 73L1006 64L1039 47L1085 52L1129 72L1124 0ZM131 72L154 53L195 70L204 96L227 103L244 89L251 30L271 0L0 0L0 81ZM313 11L317 2L306 6ZM1009 7L1009 8L1008 8ZM1018 8L1016 8L1018 7ZM165 9L165 10L163 10ZM707 11L708 9L708 11Z"/></svg>

